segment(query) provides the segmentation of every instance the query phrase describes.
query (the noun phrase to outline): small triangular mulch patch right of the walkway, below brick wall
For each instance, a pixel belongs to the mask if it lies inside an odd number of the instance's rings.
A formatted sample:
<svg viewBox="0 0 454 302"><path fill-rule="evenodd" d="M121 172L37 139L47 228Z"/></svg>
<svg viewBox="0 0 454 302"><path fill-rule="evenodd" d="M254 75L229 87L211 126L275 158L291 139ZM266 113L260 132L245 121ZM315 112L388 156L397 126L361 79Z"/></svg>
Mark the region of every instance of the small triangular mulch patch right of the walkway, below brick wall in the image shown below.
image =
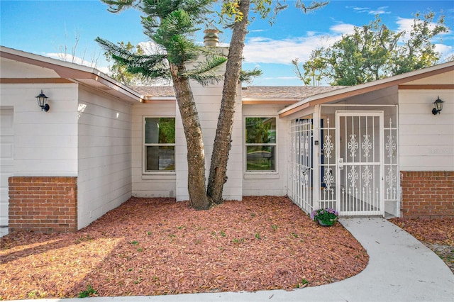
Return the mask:
<svg viewBox="0 0 454 302"><path fill-rule="evenodd" d="M454 218L393 218L389 221L423 242L454 273Z"/></svg>

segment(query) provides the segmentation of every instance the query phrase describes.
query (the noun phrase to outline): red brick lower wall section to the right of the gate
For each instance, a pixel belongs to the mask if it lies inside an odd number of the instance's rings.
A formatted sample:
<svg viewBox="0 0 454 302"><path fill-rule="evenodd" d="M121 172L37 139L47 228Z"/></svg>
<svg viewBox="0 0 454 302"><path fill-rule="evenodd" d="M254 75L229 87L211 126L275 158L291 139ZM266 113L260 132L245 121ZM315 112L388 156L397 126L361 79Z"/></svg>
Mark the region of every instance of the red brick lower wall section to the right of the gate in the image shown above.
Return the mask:
<svg viewBox="0 0 454 302"><path fill-rule="evenodd" d="M404 218L454 216L454 172L401 172Z"/></svg>

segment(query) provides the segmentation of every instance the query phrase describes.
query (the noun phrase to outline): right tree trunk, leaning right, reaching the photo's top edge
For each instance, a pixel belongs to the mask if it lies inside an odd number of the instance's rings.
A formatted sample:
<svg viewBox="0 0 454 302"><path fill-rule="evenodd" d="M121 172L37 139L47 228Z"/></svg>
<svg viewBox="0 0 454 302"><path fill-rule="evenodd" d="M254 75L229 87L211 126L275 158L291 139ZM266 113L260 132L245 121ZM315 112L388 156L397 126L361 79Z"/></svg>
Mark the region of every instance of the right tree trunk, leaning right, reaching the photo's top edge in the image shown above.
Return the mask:
<svg viewBox="0 0 454 302"><path fill-rule="evenodd" d="M221 111L219 112L216 137L214 138L208 188L206 190L206 195L211 198L211 202L216 204L223 201L223 185L227 181L228 153L231 149L236 91L238 79L240 78L244 40L247 33L249 6L249 0L240 1L240 11L243 12L243 20L233 25L231 44L228 50Z"/></svg>

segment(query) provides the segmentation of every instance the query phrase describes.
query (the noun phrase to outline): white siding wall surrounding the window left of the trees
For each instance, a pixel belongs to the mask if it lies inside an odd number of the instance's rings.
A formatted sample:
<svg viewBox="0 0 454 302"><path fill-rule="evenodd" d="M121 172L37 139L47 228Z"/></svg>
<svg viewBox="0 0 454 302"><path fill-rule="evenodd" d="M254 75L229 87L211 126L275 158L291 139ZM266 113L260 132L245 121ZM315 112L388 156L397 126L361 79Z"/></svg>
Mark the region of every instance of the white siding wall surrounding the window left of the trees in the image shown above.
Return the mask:
<svg viewBox="0 0 454 302"><path fill-rule="evenodd" d="M175 172L143 174L143 118L175 117L176 104L134 104L132 134L133 196L175 197Z"/></svg>

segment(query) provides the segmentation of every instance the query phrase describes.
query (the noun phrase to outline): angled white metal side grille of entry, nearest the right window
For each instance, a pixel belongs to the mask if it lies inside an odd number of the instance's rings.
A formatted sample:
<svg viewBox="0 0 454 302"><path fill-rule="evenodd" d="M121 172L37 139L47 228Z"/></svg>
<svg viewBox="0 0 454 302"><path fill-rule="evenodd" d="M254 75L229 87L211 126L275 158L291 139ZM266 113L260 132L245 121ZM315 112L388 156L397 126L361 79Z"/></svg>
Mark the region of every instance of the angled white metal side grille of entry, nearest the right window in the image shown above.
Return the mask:
<svg viewBox="0 0 454 302"><path fill-rule="evenodd" d="M312 120L299 118L290 126L289 197L306 213L313 210L312 201Z"/></svg>

